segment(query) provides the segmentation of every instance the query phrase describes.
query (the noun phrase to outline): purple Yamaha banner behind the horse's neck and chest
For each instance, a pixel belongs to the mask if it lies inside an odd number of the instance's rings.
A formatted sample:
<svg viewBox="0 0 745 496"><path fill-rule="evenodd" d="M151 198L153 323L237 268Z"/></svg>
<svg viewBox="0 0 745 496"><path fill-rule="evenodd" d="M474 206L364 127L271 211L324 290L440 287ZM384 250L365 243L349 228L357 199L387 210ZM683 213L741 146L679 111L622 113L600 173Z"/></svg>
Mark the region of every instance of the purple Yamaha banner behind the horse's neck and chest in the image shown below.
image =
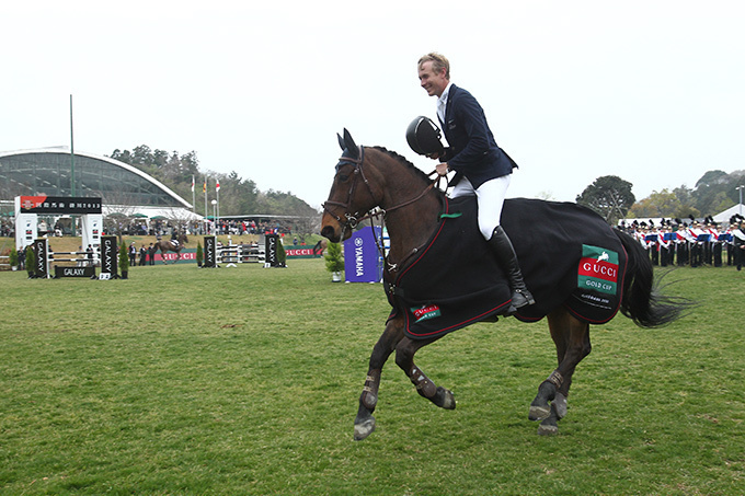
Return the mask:
<svg viewBox="0 0 745 496"><path fill-rule="evenodd" d="M366 227L344 242L344 280L347 282L380 282L382 264L378 243L380 228Z"/></svg>

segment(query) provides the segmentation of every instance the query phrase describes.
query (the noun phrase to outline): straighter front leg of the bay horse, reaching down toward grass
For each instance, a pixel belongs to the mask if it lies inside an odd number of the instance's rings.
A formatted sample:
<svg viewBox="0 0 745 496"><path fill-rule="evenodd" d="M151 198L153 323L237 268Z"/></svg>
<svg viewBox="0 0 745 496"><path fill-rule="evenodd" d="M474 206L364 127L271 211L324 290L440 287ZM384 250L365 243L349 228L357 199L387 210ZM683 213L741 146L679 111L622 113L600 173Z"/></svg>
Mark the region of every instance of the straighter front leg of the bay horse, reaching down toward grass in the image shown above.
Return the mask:
<svg viewBox="0 0 745 496"><path fill-rule="evenodd" d="M360 441L375 430L375 417L373 412L378 404L378 390L380 388L380 373L388 357L396 349L403 337L403 320L392 319L386 325L386 330L375 344L370 364L365 378L365 387L359 395L357 417L354 419L354 439Z"/></svg>

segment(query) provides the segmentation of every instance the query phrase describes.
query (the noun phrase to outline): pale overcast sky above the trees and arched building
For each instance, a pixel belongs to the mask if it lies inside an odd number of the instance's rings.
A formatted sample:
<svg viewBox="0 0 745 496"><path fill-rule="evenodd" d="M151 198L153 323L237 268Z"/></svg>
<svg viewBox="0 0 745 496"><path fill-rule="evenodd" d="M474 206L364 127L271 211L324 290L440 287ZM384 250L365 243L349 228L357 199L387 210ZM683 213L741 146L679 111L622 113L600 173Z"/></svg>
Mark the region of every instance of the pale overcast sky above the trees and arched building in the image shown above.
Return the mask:
<svg viewBox="0 0 745 496"><path fill-rule="evenodd" d="M520 166L508 197L745 169L740 0L38 0L3 21L0 151L69 147L72 95L76 151L195 151L320 208L344 128L434 170L405 129L436 118L416 60L439 51Z"/></svg>

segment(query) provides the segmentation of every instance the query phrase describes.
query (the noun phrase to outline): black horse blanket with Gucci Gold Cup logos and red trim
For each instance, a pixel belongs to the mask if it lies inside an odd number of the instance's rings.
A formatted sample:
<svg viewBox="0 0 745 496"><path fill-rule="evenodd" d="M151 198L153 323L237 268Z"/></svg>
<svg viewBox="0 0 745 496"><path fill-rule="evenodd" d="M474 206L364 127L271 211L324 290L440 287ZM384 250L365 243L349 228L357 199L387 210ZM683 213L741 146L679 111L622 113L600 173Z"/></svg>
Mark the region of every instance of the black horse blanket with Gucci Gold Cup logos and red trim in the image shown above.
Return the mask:
<svg viewBox="0 0 745 496"><path fill-rule="evenodd" d="M599 324L621 301L626 252L603 218L570 203L526 198L504 204L509 235L536 303L514 314L537 322L562 304L577 319ZM508 279L477 221L475 197L444 199L440 224L431 240L391 278L383 278L404 332L424 339L506 314Z"/></svg>

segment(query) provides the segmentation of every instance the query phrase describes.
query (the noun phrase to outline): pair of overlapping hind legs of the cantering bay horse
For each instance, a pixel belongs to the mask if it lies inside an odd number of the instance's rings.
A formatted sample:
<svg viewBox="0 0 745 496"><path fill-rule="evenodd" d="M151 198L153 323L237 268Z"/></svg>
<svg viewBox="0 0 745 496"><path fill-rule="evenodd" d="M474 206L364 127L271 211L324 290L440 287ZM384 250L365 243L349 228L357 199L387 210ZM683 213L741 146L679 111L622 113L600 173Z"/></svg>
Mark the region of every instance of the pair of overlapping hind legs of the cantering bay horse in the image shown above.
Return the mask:
<svg viewBox="0 0 745 496"><path fill-rule="evenodd" d="M558 432L557 423L566 415L566 397L574 370L592 349L589 324L578 321L564 309L551 312L548 321L559 367L538 388L528 415L531 420L542 420L538 428L541 435Z"/></svg>

